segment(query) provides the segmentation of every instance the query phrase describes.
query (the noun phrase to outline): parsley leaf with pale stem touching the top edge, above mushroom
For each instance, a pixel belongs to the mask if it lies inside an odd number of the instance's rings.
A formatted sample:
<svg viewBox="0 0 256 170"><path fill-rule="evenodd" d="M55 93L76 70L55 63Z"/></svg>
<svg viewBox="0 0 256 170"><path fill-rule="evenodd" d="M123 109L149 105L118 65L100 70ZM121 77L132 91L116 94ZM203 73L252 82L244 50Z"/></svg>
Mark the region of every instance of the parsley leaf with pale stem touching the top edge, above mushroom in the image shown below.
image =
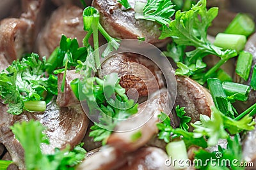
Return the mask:
<svg viewBox="0 0 256 170"><path fill-rule="evenodd" d="M148 0L143 8L143 13L136 13L136 19L151 20L158 24L168 25L175 13L170 0Z"/></svg>

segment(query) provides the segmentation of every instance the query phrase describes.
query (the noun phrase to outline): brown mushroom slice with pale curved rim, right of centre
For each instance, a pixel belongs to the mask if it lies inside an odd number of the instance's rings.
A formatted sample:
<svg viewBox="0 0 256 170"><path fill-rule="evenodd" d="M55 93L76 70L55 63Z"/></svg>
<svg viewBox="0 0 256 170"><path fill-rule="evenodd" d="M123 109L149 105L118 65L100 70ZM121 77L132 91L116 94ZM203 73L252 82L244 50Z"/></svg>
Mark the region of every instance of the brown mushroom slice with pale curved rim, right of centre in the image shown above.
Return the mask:
<svg viewBox="0 0 256 170"><path fill-rule="evenodd" d="M194 123L200 115L211 117L211 106L214 106L211 94L207 89L191 78L177 76L177 97L175 104L185 107L186 116Z"/></svg>

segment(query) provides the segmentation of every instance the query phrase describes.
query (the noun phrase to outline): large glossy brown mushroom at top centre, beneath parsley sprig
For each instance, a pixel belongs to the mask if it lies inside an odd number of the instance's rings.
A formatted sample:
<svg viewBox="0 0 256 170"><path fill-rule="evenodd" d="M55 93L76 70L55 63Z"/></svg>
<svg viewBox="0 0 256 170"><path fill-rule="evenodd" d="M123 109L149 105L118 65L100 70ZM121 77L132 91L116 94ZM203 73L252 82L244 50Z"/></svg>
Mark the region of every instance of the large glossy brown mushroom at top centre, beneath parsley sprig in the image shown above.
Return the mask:
<svg viewBox="0 0 256 170"><path fill-rule="evenodd" d="M163 46L169 39L159 40L161 31L160 25L156 22L135 19L135 0L128 0L131 9L125 10L115 0L94 0L93 6L99 10L100 24L106 31L115 38L138 39L145 38L145 41L154 45ZM141 1L147 3L146 0Z"/></svg>

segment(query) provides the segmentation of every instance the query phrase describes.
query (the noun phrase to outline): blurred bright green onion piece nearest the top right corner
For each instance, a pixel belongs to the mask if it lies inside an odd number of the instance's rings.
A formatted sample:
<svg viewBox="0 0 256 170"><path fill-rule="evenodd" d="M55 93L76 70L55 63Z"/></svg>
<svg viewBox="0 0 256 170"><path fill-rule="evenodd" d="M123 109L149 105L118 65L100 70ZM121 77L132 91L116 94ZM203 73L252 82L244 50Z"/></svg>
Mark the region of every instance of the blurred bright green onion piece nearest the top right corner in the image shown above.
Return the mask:
<svg viewBox="0 0 256 170"><path fill-rule="evenodd" d="M238 13L232 22L230 22L228 25L225 33L250 36L254 30L255 23L253 22L253 19L244 13Z"/></svg>

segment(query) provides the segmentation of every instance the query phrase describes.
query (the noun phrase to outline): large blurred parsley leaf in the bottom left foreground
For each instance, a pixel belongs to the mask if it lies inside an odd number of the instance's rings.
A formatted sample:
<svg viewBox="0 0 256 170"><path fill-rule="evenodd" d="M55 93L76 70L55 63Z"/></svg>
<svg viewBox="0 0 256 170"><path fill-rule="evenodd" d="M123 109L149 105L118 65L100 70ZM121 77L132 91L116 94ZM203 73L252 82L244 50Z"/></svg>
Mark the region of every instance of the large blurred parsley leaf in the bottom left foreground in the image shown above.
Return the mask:
<svg viewBox="0 0 256 170"><path fill-rule="evenodd" d="M42 132L45 127L34 120L29 122L17 123L10 127L24 148L26 169L74 169L85 157L85 150L78 145L74 150L69 151L69 146L64 150L56 148L55 153L45 155L42 153L40 145L49 145L49 139Z"/></svg>

